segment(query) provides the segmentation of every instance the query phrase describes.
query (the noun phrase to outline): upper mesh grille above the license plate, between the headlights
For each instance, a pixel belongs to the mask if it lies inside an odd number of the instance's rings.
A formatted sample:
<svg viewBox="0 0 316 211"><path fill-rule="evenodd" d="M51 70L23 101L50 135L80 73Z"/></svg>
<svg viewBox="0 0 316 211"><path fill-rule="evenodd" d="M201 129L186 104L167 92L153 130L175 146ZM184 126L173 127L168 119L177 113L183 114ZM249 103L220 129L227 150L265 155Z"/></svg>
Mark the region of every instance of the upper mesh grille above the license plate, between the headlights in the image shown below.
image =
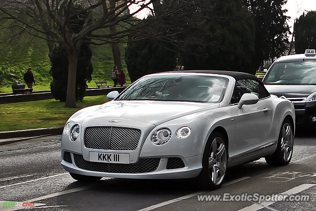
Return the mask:
<svg viewBox="0 0 316 211"><path fill-rule="evenodd" d="M128 127L87 127L84 146L90 149L135 150L141 130Z"/></svg>

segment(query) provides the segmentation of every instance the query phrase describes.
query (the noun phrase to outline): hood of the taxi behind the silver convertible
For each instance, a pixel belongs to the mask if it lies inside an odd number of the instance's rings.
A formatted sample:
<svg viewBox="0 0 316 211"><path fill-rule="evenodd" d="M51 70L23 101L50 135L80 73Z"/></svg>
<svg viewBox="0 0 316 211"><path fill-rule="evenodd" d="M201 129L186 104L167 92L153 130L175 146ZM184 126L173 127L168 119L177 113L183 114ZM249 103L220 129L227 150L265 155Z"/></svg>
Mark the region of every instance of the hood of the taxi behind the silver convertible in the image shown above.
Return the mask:
<svg viewBox="0 0 316 211"><path fill-rule="evenodd" d="M267 85L265 87L271 94L284 97L307 97L316 91L316 85Z"/></svg>

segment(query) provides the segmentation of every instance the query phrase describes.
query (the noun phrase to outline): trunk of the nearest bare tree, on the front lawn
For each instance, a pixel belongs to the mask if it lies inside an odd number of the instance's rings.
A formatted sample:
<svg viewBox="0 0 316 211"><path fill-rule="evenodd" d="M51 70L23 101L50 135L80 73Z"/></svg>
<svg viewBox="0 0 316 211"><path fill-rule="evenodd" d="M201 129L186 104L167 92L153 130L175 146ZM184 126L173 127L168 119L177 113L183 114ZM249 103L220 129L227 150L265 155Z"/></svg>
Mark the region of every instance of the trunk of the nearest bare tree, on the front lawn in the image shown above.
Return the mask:
<svg viewBox="0 0 316 211"><path fill-rule="evenodd" d="M68 84L67 84L67 96L66 107L76 108L76 76L77 76L77 63L78 54L68 55Z"/></svg>

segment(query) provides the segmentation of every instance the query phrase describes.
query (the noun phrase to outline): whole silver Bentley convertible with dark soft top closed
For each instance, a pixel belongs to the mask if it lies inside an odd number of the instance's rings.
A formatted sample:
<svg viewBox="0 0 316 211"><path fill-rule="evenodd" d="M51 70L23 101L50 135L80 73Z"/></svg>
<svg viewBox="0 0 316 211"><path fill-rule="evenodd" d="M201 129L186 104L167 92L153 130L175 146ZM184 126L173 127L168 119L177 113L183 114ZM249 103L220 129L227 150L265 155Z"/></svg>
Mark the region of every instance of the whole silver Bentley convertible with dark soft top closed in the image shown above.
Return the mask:
<svg viewBox="0 0 316 211"><path fill-rule="evenodd" d="M61 165L77 180L196 177L219 188L227 169L264 157L287 165L293 103L253 75L179 71L142 77L65 125Z"/></svg>

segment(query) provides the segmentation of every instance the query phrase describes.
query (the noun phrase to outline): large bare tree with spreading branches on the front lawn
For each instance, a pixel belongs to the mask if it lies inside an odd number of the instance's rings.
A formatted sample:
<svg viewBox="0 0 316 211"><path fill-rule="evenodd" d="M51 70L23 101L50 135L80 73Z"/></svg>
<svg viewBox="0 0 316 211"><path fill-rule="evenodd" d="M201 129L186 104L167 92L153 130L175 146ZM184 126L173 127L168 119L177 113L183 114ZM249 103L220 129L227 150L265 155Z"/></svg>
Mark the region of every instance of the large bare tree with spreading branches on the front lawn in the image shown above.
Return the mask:
<svg viewBox="0 0 316 211"><path fill-rule="evenodd" d="M157 19L140 20L133 17L144 8L151 9L149 5L152 1L6 0L0 2L0 27L14 33L3 38L2 42L28 33L46 40L50 52L56 43L65 47L69 61L66 107L76 107L76 72L82 44L112 43L113 51L118 51L117 43L127 42L127 37L138 41L148 37L165 36L146 30L153 24L151 21ZM128 10L131 4L139 6L133 13ZM83 27L73 30L77 27L75 19L84 19Z"/></svg>

